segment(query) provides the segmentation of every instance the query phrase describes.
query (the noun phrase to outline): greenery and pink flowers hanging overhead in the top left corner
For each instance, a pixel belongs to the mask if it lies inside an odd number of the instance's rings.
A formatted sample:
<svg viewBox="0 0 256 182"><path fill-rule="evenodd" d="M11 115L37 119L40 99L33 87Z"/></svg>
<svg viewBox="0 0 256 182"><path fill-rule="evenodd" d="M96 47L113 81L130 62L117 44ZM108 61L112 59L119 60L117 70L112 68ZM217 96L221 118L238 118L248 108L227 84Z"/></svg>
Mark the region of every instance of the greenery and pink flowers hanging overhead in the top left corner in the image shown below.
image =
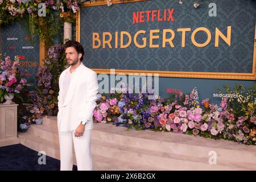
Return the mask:
<svg viewBox="0 0 256 182"><path fill-rule="evenodd" d="M80 6L81 0L0 0L0 25L26 19L31 39L36 32L49 47L60 34L63 22L75 22Z"/></svg>

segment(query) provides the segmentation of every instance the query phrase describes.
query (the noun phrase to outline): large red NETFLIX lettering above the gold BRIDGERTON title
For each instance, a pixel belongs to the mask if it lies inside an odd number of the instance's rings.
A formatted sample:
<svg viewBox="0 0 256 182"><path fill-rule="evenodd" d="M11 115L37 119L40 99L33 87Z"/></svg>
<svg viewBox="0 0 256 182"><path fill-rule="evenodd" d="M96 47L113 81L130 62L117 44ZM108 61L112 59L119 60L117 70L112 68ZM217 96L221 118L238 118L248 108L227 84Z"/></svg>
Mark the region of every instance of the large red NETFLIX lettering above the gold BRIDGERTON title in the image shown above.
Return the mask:
<svg viewBox="0 0 256 182"><path fill-rule="evenodd" d="M174 9L133 12L133 24L143 22L174 22Z"/></svg>

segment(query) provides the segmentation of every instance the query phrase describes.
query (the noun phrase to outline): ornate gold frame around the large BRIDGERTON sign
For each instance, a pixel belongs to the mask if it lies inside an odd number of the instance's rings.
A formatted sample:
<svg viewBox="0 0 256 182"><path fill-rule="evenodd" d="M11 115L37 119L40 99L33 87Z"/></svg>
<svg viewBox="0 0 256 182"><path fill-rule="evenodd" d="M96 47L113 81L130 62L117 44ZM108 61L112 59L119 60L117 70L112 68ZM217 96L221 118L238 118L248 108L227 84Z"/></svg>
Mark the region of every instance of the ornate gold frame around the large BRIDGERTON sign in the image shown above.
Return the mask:
<svg viewBox="0 0 256 182"><path fill-rule="evenodd" d="M147 0L113 0L113 4L117 3L129 3ZM101 6L106 5L106 1L97 2L84 2L83 7L89 6ZM255 24L255 36L256 39L256 24ZM80 42L80 11L76 13L76 41ZM147 75L148 73L154 74L158 73L160 77L180 77L180 78L212 78L212 79L229 79L229 80L256 80L256 42L254 41L254 52L253 52L253 71L252 73L225 73L225 72L175 72L175 71L144 71L144 70L130 70L130 69L115 69L115 75L124 74L129 75L129 73L143 73ZM110 69L93 69L98 74L105 73L110 74Z"/></svg>

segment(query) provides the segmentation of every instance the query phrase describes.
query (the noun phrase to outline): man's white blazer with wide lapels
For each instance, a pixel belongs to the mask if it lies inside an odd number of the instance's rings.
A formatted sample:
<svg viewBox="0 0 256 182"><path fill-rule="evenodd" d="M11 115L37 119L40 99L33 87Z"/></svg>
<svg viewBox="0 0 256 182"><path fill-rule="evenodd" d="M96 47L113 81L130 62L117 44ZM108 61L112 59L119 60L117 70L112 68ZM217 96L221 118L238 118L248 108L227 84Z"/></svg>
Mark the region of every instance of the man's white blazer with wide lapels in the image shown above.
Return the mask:
<svg viewBox="0 0 256 182"><path fill-rule="evenodd" d="M71 67L59 77L57 125L59 131L73 131L85 121L85 130L93 129L93 110L96 107L98 81L97 73L81 63L69 84L67 95L63 96L63 80ZM73 74L72 73L72 74Z"/></svg>

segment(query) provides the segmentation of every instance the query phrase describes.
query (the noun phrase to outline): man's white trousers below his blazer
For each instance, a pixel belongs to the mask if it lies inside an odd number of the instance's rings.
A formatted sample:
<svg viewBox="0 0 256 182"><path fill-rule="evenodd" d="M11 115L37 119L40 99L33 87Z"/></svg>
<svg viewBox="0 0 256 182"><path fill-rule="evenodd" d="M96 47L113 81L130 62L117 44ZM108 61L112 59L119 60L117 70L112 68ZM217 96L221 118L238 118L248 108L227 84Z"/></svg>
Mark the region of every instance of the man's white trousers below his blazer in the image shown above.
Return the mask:
<svg viewBox="0 0 256 182"><path fill-rule="evenodd" d="M60 170L72 171L73 144L78 171L92 171L92 154L90 151L90 135L92 130L85 130L82 137L75 137L75 131L59 132Z"/></svg>

